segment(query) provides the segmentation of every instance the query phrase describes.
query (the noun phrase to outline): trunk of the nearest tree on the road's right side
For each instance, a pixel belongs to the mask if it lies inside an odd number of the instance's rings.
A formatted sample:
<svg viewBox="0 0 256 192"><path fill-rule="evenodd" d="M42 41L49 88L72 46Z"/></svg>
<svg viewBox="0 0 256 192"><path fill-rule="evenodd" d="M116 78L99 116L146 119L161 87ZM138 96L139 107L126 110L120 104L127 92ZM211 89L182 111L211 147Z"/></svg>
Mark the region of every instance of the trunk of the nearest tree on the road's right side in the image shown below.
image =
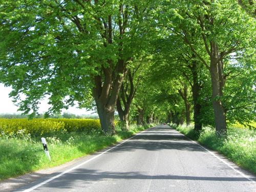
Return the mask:
<svg viewBox="0 0 256 192"><path fill-rule="evenodd" d="M227 125L225 110L221 103L222 96L222 79L220 77L220 69L218 62L217 46L214 45L214 56L210 58L210 75L211 75L211 88L212 88L212 105L214 107L214 119L217 136L226 136Z"/></svg>

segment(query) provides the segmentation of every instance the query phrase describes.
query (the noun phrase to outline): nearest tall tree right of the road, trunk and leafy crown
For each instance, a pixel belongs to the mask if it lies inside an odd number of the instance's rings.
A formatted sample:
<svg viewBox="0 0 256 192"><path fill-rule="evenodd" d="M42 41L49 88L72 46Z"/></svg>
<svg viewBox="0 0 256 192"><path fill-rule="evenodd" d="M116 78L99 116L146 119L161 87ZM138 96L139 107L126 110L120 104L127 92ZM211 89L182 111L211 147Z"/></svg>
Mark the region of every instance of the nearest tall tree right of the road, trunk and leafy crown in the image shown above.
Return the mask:
<svg viewBox="0 0 256 192"><path fill-rule="evenodd" d="M253 47L252 18L234 0L163 1L162 12L166 16L161 15L159 23L177 35L208 69L216 134L226 135L226 114L222 98L230 74L225 71L225 63L230 55L242 55ZM203 52L195 47L198 42L204 45Z"/></svg>

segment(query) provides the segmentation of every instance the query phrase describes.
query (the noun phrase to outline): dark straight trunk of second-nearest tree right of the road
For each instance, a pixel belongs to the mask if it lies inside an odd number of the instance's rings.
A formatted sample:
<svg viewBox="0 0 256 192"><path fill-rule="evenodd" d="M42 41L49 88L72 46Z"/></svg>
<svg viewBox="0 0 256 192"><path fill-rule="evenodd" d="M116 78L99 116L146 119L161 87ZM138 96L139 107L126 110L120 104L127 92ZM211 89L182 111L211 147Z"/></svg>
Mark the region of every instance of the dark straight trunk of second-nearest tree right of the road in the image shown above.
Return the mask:
<svg viewBox="0 0 256 192"><path fill-rule="evenodd" d="M198 101L201 86L198 78L197 61L193 61L191 72L193 75L192 95L193 95L193 104L194 104L194 123L195 123L194 130L201 131L202 123L200 121L200 113L201 113L202 106Z"/></svg>

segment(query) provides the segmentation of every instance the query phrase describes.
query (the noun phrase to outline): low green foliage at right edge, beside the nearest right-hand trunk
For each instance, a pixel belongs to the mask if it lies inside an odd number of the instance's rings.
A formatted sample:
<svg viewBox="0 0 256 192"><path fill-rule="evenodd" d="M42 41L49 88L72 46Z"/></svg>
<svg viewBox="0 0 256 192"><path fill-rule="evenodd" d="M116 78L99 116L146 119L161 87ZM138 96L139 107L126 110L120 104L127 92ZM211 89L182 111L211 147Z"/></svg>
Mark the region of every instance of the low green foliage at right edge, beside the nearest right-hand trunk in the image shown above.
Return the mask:
<svg viewBox="0 0 256 192"><path fill-rule="evenodd" d="M249 125L256 115L256 68L252 65L253 56L243 63L229 67L233 75L228 79L223 99L229 124L236 121Z"/></svg>

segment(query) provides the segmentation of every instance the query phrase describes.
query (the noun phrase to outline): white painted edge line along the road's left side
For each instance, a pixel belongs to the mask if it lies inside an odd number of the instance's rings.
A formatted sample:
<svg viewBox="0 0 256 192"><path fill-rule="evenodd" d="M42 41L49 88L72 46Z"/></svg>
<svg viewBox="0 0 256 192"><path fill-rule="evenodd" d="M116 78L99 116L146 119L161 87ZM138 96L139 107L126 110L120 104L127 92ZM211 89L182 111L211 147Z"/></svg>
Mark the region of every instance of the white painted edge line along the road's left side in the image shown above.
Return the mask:
<svg viewBox="0 0 256 192"><path fill-rule="evenodd" d="M74 166L74 167L72 167L72 168L70 168L70 169L68 169L68 170L65 170L65 172L62 172L62 173L60 173L60 174L58 174L58 175L56 175L56 176L54 176L54 177L51 177L50 179L47 179L47 180L45 180L45 181L43 181L43 182L41 182L41 183L38 183L37 185L34 185L33 187L30 187L30 188L25 189L25 190L18 190L17 192L30 192L30 191L32 191L32 190L34 190L34 189L36 189L36 188L38 188L38 187L40 187L40 186L42 186L42 185L45 185L46 183L49 183L50 181L52 181L52 180L54 180L54 179L56 179L56 178L58 178L58 177L60 177L60 176L62 176L62 175L64 175L64 174L66 174L66 173L69 173L69 172L71 172L72 170L74 170L74 169L76 169L76 168L78 168L78 167L80 167L80 166L82 166L82 165L84 165L84 164L86 164L86 163L88 163L88 162L90 162L90 161L92 161L92 160L98 158L99 156L105 154L106 152L109 152L110 150L113 150L113 148L116 148L117 146L123 144L124 142L126 142L126 141L128 141L128 140L134 138L135 136L137 136L137 135L139 135L139 134L141 134L141 133L143 133L143 132L145 132L145 131L146 131L146 130L144 130L144 131L142 131L142 132L140 132L140 133L134 135L133 137L130 137L129 139L125 139L124 141L122 141L121 143L115 145L114 147L110 148L109 150L106 150L106 151L102 152L101 154L99 154L99 155L97 155L97 156L95 156L95 157L93 157L93 158L91 158L91 159L89 159L89 160L87 160L87 161L84 161L84 162L82 162L82 163L80 163L80 164L78 164L78 165L76 165L76 166Z"/></svg>

